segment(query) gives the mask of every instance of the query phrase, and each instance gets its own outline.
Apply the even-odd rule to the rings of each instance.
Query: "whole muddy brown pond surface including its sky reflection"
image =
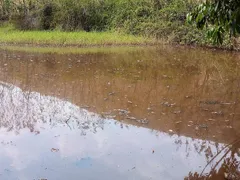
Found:
[[[240,54],[0,50],[0,179],[239,179]]]

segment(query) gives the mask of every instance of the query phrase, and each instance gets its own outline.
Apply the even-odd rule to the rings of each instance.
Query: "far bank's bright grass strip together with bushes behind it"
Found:
[[[186,14],[195,7],[197,2],[195,0],[8,0],[3,2],[0,19],[14,24],[19,30],[27,31],[1,34],[3,42],[24,41],[51,45],[149,43],[145,38],[135,37],[141,36],[177,44],[206,43],[204,32],[186,23]],[[37,32],[46,30],[54,32]],[[96,31],[99,33],[95,33]]]

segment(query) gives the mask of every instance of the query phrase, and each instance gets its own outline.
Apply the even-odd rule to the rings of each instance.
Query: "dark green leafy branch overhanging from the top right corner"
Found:
[[[226,34],[240,33],[240,0],[207,0],[187,15],[187,22],[207,29],[207,37],[214,44],[222,44]]]

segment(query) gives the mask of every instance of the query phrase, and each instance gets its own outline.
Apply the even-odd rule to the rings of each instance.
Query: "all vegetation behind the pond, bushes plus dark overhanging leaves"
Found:
[[[230,47],[240,32],[240,0],[0,0],[0,22],[20,30],[113,31]]]

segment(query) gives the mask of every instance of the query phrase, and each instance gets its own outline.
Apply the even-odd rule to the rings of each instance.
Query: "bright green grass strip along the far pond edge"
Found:
[[[0,43],[50,46],[109,46],[154,44],[153,39],[114,32],[20,31],[0,28]]]

